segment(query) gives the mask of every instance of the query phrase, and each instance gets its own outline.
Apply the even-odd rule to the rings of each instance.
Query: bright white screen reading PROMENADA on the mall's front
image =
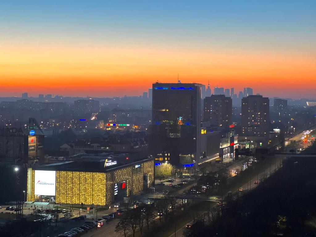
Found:
[[[56,171],[35,170],[35,195],[55,196]]]

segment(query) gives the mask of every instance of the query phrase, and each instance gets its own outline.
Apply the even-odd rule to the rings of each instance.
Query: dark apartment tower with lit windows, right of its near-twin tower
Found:
[[[262,95],[242,98],[242,136],[265,137],[269,132],[269,123],[269,98]]]

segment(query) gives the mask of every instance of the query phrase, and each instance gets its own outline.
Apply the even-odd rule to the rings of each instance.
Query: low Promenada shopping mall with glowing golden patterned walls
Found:
[[[27,201],[107,205],[147,191],[154,183],[154,159],[131,154],[81,154],[29,168]]]

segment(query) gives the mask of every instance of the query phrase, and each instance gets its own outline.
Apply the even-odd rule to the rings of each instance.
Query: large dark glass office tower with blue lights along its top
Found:
[[[149,149],[158,161],[177,167],[200,156],[201,84],[153,84]],[[193,165],[192,165],[193,166]]]

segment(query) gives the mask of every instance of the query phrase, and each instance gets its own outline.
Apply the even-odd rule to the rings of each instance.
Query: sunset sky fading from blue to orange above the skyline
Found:
[[[154,82],[316,98],[316,1],[0,1],[0,96]]]

